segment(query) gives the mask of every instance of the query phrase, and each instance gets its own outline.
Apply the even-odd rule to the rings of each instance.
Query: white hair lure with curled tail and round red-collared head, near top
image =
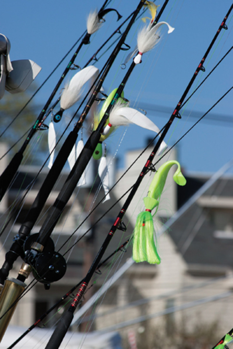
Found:
[[[153,47],[159,42],[160,36],[157,31],[163,24],[166,24],[168,26],[168,34],[173,32],[173,30],[175,29],[172,28],[167,22],[159,22],[152,28],[150,25],[148,27],[145,26],[138,32],[137,44],[139,53],[133,60],[135,64],[140,63],[143,53],[152,50]]]

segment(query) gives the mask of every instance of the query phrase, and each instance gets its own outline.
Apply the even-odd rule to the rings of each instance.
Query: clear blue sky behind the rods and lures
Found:
[[[102,6],[100,0],[87,2],[12,0],[10,3],[10,7],[6,1],[1,4],[1,14],[4,14],[1,18],[1,33],[10,39],[11,60],[29,58],[42,67],[36,78],[38,86],[86,29],[86,17],[89,11]],[[163,1],[156,1],[156,3],[162,6]],[[116,8],[123,15],[121,20],[123,21],[137,7],[137,4],[138,0],[115,0],[110,2],[109,7]],[[161,128],[168,121],[230,6],[230,0],[222,2],[170,0],[168,2],[160,20],[169,22],[175,27],[175,30],[168,35],[167,29],[163,29],[160,43],[150,53],[143,55],[142,63],[135,67],[124,90],[125,97],[131,101],[131,106],[146,109],[147,116],[158,127]],[[149,16],[149,13],[147,15]],[[193,88],[197,82],[200,83],[205,78],[213,66],[231,48],[233,42],[232,15],[233,12],[226,22],[228,30],[221,31],[206,59],[204,64],[206,72],[198,74]],[[84,66],[111,32],[121,24],[121,21],[116,22],[116,18],[114,13],[105,17],[105,23],[91,37],[90,44],[82,47],[75,60],[76,64]],[[132,50],[136,46],[137,31],[142,25],[143,22],[138,20],[126,38],[126,43],[131,46]],[[75,49],[76,47],[77,45]],[[109,57],[113,47],[102,57],[100,55],[103,51],[97,56],[100,57],[96,63],[99,69]],[[41,106],[45,104],[75,49],[38,92],[35,103]],[[192,97],[182,114],[182,119],[173,122],[165,138],[170,146],[194,124],[197,116],[204,114],[232,86],[232,51]],[[128,62],[125,70],[120,68],[127,54],[128,52],[125,51],[118,54],[103,84],[106,92],[118,87],[121,83],[131,63],[131,61]],[[67,79],[70,79],[72,74],[72,72],[69,73]],[[214,172],[231,159],[233,148],[232,96],[231,91],[213,109],[211,118],[201,121],[179,143],[179,161],[186,170]],[[76,109],[77,106],[73,110]],[[227,122],[221,121],[226,117],[229,118]],[[125,151],[143,147],[146,138],[153,136],[151,132],[137,126],[130,126],[123,140],[121,134],[122,129],[119,128],[108,141],[112,154],[115,153],[117,144],[121,142],[118,150],[121,158]]]

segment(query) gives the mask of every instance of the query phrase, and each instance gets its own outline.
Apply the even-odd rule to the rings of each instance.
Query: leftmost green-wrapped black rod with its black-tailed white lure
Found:
[[[77,57],[78,52],[80,51],[82,45],[87,45],[89,44],[89,39],[90,36],[99,29],[99,23],[102,19],[102,17],[108,13],[109,11],[116,11],[115,9],[104,9],[106,3],[108,2],[108,0],[104,1],[103,6],[101,7],[101,9],[99,10],[99,12],[96,14],[96,18],[95,18],[95,22],[94,22],[94,26],[90,26],[90,28],[88,28],[88,30],[86,31],[86,35],[83,37],[80,45],[78,46],[77,50],[75,51],[75,53],[73,54],[73,57],[71,58],[69,64],[67,65],[67,67],[65,68],[63,74],[61,75],[56,87],[54,88],[54,90],[52,91],[48,101],[45,103],[42,111],[40,112],[34,126],[31,128],[31,131],[29,132],[26,140],[24,141],[22,147],[20,148],[20,150],[14,155],[14,157],[12,158],[12,160],[10,161],[9,165],[7,166],[7,168],[5,169],[5,171],[1,174],[0,176],[0,200],[3,198],[3,195],[5,194],[5,192],[7,191],[8,186],[10,185],[12,179],[15,176],[15,173],[17,171],[17,169],[19,168],[19,165],[22,162],[23,159],[23,153],[24,150],[27,148],[30,140],[32,139],[33,135],[36,133],[36,131],[38,129],[41,129],[41,127],[43,127],[41,120],[44,117],[44,114],[48,108],[48,106],[50,105],[54,95],[56,94],[60,84],[63,82],[64,77],[67,75],[67,73],[70,70],[70,67],[72,66],[72,64],[74,63],[75,58]],[[118,20],[122,17],[121,15],[118,14]]]

